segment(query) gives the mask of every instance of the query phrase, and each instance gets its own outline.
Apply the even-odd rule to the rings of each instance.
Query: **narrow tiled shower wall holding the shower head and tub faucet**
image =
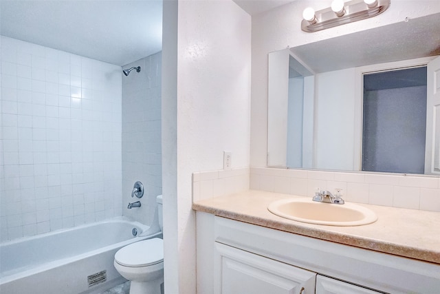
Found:
[[[141,67],[122,76],[122,215],[151,224],[156,196],[162,193],[162,52],[122,68]],[[144,196],[131,198],[136,181]],[[142,206],[127,209],[129,202]]]

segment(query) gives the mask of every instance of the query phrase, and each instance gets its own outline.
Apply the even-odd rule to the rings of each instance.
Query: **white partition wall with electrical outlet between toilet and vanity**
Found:
[[[221,169],[223,150],[250,164],[251,19],[232,1],[164,1],[164,19],[165,284],[196,293],[191,175]]]

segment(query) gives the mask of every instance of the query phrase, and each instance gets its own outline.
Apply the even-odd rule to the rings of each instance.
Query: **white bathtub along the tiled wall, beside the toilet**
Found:
[[[132,230],[137,230],[133,236]],[[160,237],[151,227],[114,218],[0,244],[0,293],[100,293],[124,278],[113,267],[122,246]]]

